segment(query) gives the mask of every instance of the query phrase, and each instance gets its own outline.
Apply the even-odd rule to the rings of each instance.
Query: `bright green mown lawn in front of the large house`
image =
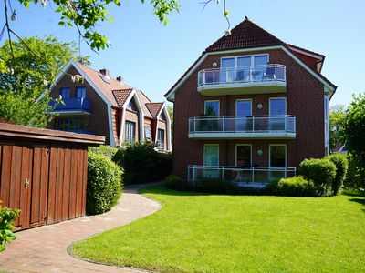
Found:
[[[78,242],[78,256],[167,272],[365,272],[362,197],[142,191],[162,209]]]

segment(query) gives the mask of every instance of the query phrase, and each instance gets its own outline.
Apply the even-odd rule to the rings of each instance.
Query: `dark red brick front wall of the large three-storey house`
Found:
[[[287,91],[280,94],[257,94],[240,96],[202,96],[197,91],[198,71],[213,68],[213,63],[220,67],[221,57],[268,54],[270,64],[280,64],[287,67]],[[245,93],[245,91],[243,91]],[[220,116],[235,116],[235,100],[239,98],[252,99],[253,116],[268,115],[270,97],[287,98],[287,115],[297,118],[297,137],[294,140],[196,140],[188,137],[189,117],[202,116],[204,100],[220,101]],[[261,109],[257,105],[261,104]],[[281,49],[246,52],[240,54],[220,54],[207,56],[175,92],[174,106],[174,140],[173,140],[173,172],[186,177],[187,166],[203,165],[203,145],[219,144],[219,165],[235,166],[235,145],[252,145],[253,166],[268,167],[268,149],[270,144],[287,145],[287,167],[298,167],[299,163],[308,157],[323,157],[324,143],[324,86],[307,70],[300,66],[292,57]],[[257,150],[263,151],[262,156]]]

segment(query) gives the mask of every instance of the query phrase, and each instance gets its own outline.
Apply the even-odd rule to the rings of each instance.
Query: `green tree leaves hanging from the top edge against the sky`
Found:
[[[31,3],[47,5],[47,1],[39,0],[18,0],[26,8]],[[144,0],[140,0],[144,4]],[[108,7],[120,6],[120,0],[55,0],[57,5],[56,12],[60,14],[58,25],[75,25],[78,33],[90,45],[92,49],[105,49],[110,45],[107,37],[97,30],[97,26],[102,22],[111,22],[112,18],[108,17]],[[179,11],[179,4],[176,0],[150,0],[153,6],[153,14],[156,15],[163,25],[169,21],[167,15],[172,11]]]

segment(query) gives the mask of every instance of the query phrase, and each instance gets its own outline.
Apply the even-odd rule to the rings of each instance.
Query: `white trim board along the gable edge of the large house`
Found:
[[[318,76],[316,72],[314,72],[312,69],[310,69],[303,61],[301,61],[297,56],[295,56],[293,53],[291,53],[285,46],[283,45],[275,45],[275,46],[265,46],[265,47],[253,47],[253,48],[244,48],[244,49],[235,49],[235,50],[225,50],[225,51],[214,51],[214,52],[206,52],[203,56],[201,56],[201,59],[190,68],[190,71],[183,76],[183,78],[179,81],[179,83],[172,88],[172,90],[166,95],[167,100],[173,101],[174,99],[174,93],[176,90],[183,85],[183,82],[190,77],[193,72],[198,68],[203,61],[206,59],[207,56],[211,55],[221,55],[221,54],[230,54],[230,53],[242,53],[242,52],[249,52],[249,51],[266,51],[266,50],[274,50],[274,49],[282,49],[285,53],[287,53],[288,56],[291,56],[300,66],[304,67],[308,71],[308,73],[315,78],[318,79],[323,85],[324,85],[324,92],[330,94],[330,98],[333,96],[336,88],[330,86],[327,81],[325,81],[322,77]]]

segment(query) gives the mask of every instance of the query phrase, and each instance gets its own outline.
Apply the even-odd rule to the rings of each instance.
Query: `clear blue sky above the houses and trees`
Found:
[[[114,21],[100,26],[112,46],[96,55],[84,43],[81,54],[91,56],[94,69],[110,69],[111,76],[122,76],[153,101],[164,100],[163,94],[227,27],[222,1],[202,10],[199,0],[181,0],[180,13],[170,15],[166,26],[152,15],[151,5],[121,2],[121,7],[110,9]],[[78,41],[75,28],[57,25],[55,5],[26,10],[13,3],[13,8],[18,16],[12,27],[18,34],[53,34],[62,41]],[[347,105],[352,94],[365,92],[365,1],[227,0],[227,8],[232,26],[246,15],[281,40],[324,54],[322,73],[339,86],[330,105]]]

